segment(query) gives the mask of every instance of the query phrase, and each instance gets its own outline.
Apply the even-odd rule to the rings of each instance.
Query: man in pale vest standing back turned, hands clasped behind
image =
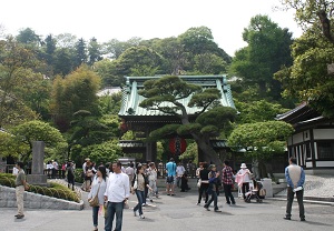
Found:
[[[285,178],[287,182],[287,204],[286,204],[286,214],[285,220],[291,220],[291,210],[294,201],[294,195],[296,193],[298,207],[299,207],[299,219],[305,221],[305,211],[304,211],[304,183],[305,183],[305,172],[304,169],[297,165],[295,158],[289,158],[289,165],[285,168]]]

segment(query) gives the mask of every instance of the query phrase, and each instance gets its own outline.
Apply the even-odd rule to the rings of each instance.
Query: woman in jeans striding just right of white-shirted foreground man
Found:
[[[143,204],[145,199],[145,188],[148,188],[151,191],[151,188],[148,184],[148,180],[144,174],[144,167],[138,165],[136,170],[136,174],[134,175],[131,193],[137,195],[138,203],[134,208],[134,214],[137,215],[137,210],[139,211],[139,218],[145,219],[143,214]]]

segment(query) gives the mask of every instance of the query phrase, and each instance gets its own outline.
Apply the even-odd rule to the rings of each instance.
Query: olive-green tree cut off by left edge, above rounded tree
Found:
[[[35,52],[12,37],[0,41],[0,127],[37,118],[20,93],[38,76],[33,71],[38,64]]]

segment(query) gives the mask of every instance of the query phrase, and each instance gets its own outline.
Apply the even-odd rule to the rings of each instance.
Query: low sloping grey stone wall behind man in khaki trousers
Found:
[[[53,210],[82,210],[84,201],[80,203],[48,195],[24,192],[24,208],[29,209],[53,209]],[[17,207],[16,189],[0,185],[0,208]]]

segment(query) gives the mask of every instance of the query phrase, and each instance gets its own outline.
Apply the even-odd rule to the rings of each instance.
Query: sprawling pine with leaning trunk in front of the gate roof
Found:
[[[236,110],[228,107],[215,107],[220,98],[218,89],[202,89],[200,86],[187,83],[175,76],[147,80],[144,90],[138,92],[146,99],[139,104],[143,108],[158,110],[180,119],[181,124],[167,124],[150,133],[150,139],[159,139],[177,132],[190,134],[198,148],[205,153],[205,160],[222,165],[222,160],[210,147],[209,138],[219,135],[236,117]],[[179,102],[190,97],[188,107],[198,108],[196,120],[191,122],[186,106]],[[171,103],[166,107],[166,102]],[[194,114],[193,114],[194,117]]]

